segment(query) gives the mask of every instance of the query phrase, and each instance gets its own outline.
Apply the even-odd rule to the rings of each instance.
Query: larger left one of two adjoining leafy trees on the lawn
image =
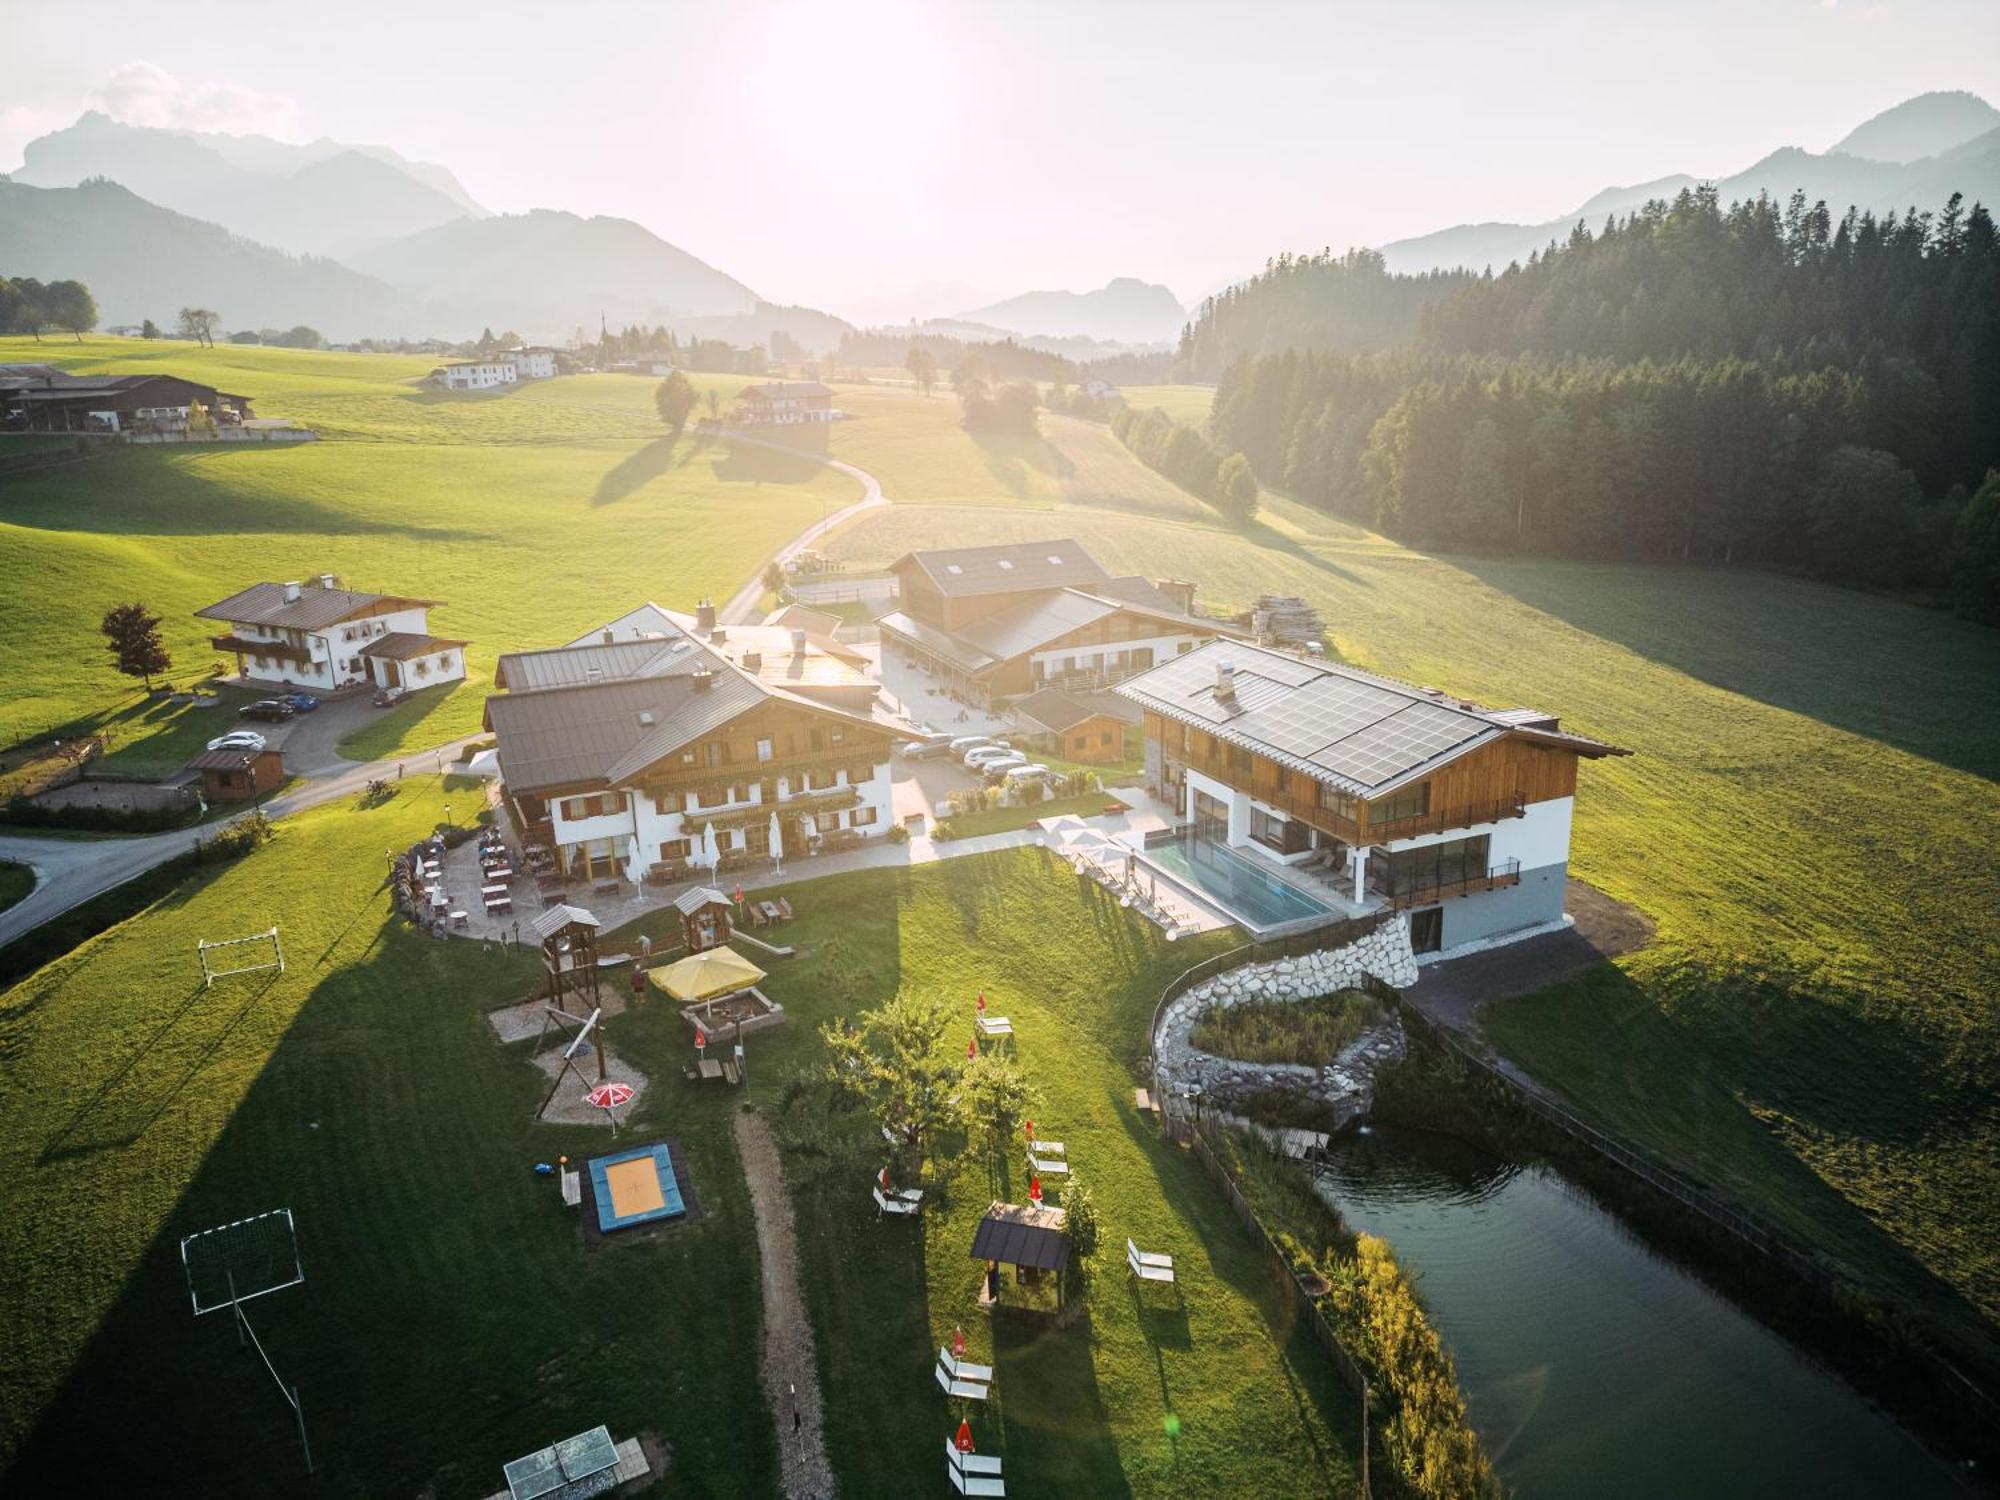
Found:
[[[942,996],[898,994],[860,1026],[820,1026],[820,1078],[834,1098],[860,1104],[900,1152],[922,1162],[938,1134],[960,1118],[964,1058],[942,1046],[954,1006]]]

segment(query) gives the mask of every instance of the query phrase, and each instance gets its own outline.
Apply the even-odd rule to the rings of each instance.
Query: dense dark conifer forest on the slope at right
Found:
[[[1310,284],[1336,288],[1332,312],[1260,350],[1282,328],[1246,328],[1246,308]],[[1388,340],[1386,314],[1362,324],[1362,304],[1400,308],[1408,336]],[[1356,256],[1274,262],[1208,304],[1182,354],[1236,346],[1214,446],[1430,546],[1930,588],[1984,538],[1958,518],[2000,468],[2000,238],[1956,198],[1834,222],[1802,198],[1684,192],[1456,282]]]

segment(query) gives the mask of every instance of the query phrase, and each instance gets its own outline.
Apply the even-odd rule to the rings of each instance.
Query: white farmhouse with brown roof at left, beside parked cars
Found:
[[[360,594],[330,574],[314,584],[250,584],[196,618],[230,630],[210,646],[230,652],[246,682],[274,688],[426,688],[466,676],[466,642],[430,634],[436,600]]]

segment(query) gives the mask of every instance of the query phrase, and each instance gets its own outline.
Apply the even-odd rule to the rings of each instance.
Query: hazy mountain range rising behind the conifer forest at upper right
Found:
[[[1410,274],[1460,266],[1502,270],[1552,242],[1560,244],[1578,222],[1596,230],[1610,214],[1630,214],[1702,182],[1714,182],[1726,204],[1760,192],[1784,202],[1802,190],[1808,202],[1824,198],[1834,218],[1848,206],[1882,214],[1914,204],[1934,212],[1954,192],[1962,192],[1968,204],[2000,208],[2000,110],[1976,94],[1918,94],[1856,126],[1822,154],[1784,146],[1734,176],[1674,174],[1604,188],[1544,224],[1458,224],[1384,244],[1382,256],[1390,270]]]

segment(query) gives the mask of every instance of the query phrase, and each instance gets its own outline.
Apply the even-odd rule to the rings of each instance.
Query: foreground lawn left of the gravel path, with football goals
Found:
[[[584,1254],[530,1168],[608,1136],[532,1124],[542,1076],[482,1014],[532,964],[386,920],[382,848],[444,796],[426,776],[290,818],[0,1000],[0,1488],[68,1490],[88,1452],[106,1494],[298,1492],[288,1412],[226,1318],[190,1316],[176,1252],[290,1206],[306,1284],[254,1316],[328,1494],[488,1494],[596,1422],[672,1444],[666,1494],[772,1492],[726,1112],[656,1096],[706,1218]],[[200,986],[196,938],[272,920],[282,976]]]

